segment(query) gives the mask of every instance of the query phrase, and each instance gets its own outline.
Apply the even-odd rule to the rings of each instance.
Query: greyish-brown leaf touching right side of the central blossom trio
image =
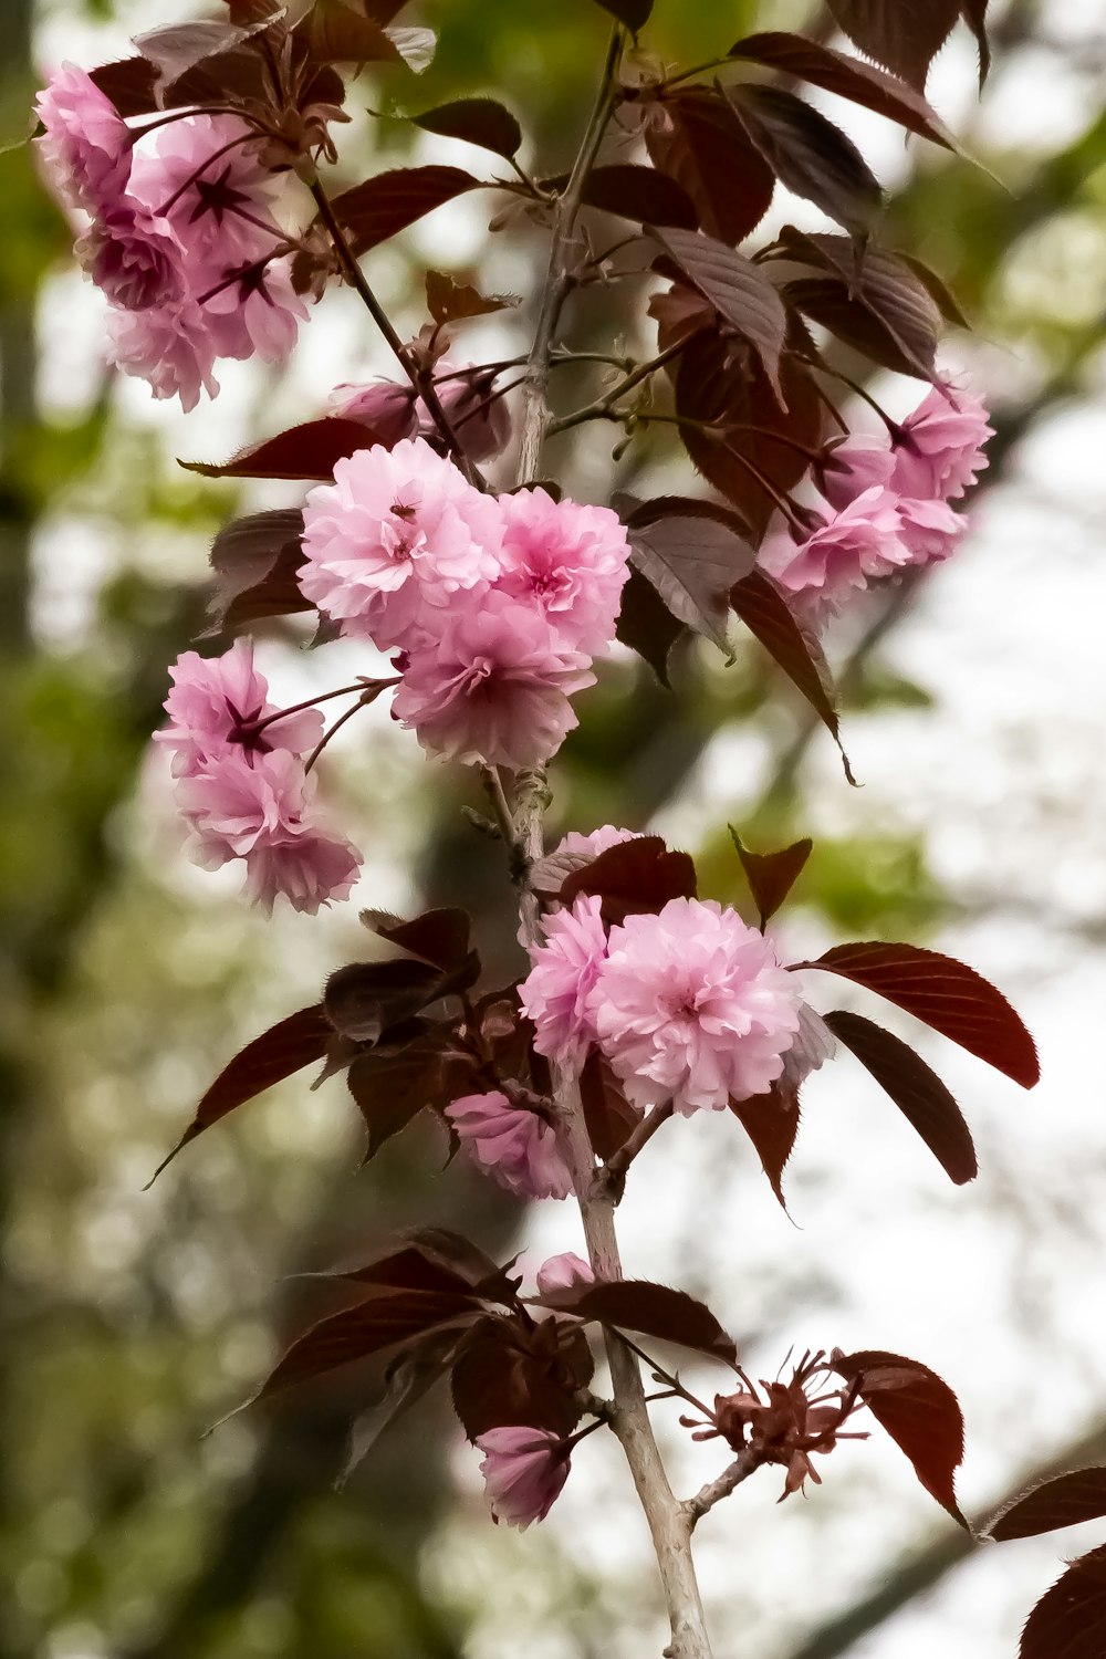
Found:
[[[647,503],[627,519],[630,562],[648,577],[677,620],[726,645],[728,594],[756,551],[726,524],[701,516],[653,516]]]

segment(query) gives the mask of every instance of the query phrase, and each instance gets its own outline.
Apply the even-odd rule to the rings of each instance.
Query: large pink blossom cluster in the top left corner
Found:
[[[111,362],[186,410],[217,393],[217,358],[284,363],[307,310],[250,128],[191,114],[144,136],[73,65],[35,109],[46,181],[85,224],[76,251],[109,302]]]

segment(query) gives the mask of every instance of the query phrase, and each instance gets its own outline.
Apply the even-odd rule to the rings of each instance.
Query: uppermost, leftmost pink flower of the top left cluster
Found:
[[[91,214],[119,206],[131,171],[131,134],[91,76],[65,63],[38,93],[35,113],[46,129],[35,146],[65,206]]]

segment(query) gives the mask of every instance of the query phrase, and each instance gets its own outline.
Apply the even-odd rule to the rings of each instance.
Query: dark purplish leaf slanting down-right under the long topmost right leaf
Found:
[[[852,139],[781,86],[743,83],[726,95],[779,182],[854,236],[866,236],[884,192]]]

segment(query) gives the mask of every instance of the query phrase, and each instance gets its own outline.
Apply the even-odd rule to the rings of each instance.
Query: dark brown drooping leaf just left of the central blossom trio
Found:
[[[303,514],[293,508],[250,513],[219,531],[211,549],[216,581],[207,607],[209,634],[315,609],[297,582],[302,534]]]

